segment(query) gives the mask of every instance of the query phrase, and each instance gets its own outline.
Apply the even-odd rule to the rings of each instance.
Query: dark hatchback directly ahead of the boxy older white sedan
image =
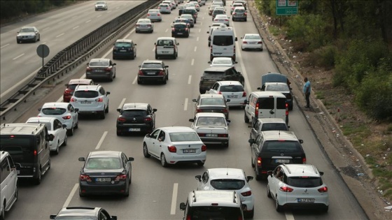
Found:
[[[198,112],[218,112],[223,113],[226,119],[229,119],[230,99],[226,99],[222,94],[200,94],[195,102],[195,115]]]

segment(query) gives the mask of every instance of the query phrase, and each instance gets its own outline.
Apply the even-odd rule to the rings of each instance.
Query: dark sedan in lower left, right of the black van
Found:
[[[123,152],[98,151],[78,160],[85,162],[80,169],[79,196],[130,195],[133,157],[128,158]]]

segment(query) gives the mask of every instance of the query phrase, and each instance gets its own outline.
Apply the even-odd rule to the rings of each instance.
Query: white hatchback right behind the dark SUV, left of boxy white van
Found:
[[[241,82],[238,81],[218,81],[209,89],[209,94],[222,94],[229,106],[239,106],[244,108],[246,105],[246,91]]]

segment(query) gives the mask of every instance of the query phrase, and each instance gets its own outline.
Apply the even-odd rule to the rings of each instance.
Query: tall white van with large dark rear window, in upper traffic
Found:
[[[211,33],[210,61],[214,57],[231,57],[235,61],[235,41],[232,27],[218,27]]]

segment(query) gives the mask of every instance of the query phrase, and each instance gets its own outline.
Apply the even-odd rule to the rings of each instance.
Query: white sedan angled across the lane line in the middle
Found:
[[[204,166],[207,147],[190,127],[162,127],[144,137],[143,154],[159,159],[163,167],[184,162]]]

